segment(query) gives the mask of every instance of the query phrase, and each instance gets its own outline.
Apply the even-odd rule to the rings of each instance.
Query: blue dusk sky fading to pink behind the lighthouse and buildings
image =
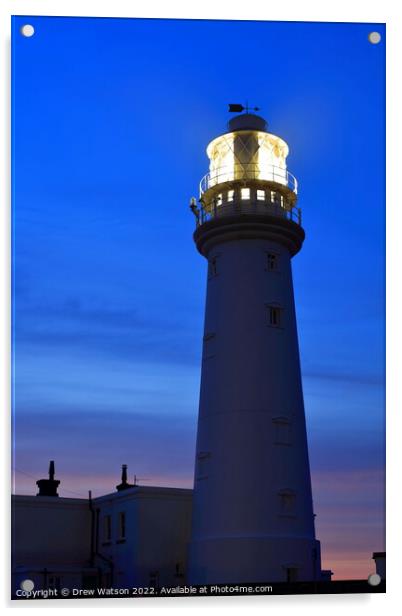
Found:
[[[143,483],[191,485],[205,262],[188,202],[227,103],[248,99],[300,183],[293,271],[324,564],[371,571],[384,39],[378,24],[14,18],[16,491],[34,493],[51,458],[65,496],[112,491],[122,463]]]

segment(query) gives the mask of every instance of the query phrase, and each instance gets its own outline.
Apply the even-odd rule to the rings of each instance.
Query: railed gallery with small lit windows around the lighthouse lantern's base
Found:
[[[197,227],[214,218],[233,215],[270,215],[301,225],[296,207],[297,180],[286,169],[259,165],[236,165],[215,169],[200,182],[200,204],[191,209]]]

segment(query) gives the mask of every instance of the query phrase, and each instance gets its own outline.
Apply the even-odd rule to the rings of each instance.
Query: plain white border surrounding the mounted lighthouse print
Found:
[[[307,614],[311,612],[326,613],[339,612],[343,608],[352,608],[356,613],[370,615],[383,609],[383,603],[387,602],[387,608],[391,603],[395,606],[400,603],[398,593],[400,558],[402,555],[400,530],[401,516],[401,490],[399,470],[400,435],[402,434],[402,407],[397,405],[397,383],[402,380],[401,360],[399,360],[399,373],[397,357],[401,340],[402,313],[398,310],[402,298],[402,258],[398,237],[402,229],[400,209],[402,200],[399,195],[398,180],[402,173],[401,165],[401,122],[402,97],[397,82],[401,81],[400,64],[402,58],[402,16],[401,3],[393,0],[337,0],[337,2],[321,2],[317,0],[280,0],[268,2],[256,0],[254,3],[235,3],[234,0],[203,0],[195,4],[188,1],[147,0],[140,3],[135,0],[3,0],[0,7],[0,36],[3,53],[1,60],[1,121],[3,123],[2,135],[6,136],[3,147],[0,150],[0,187],[2,199],[0,208],[0,292],[5,298],[1,302],[0,335],[0,374],[2,378],[0,391],[2,392],[2,414],[5,418],[3,426],[3,454],[2,466],[3,503],[4,508],[2,529],[3,546],[9,545],[9,468],[10,468],[10,439],[9,423],[7,423],[7,409],[9,408],[9,267],[10,267],[10,240],[9,240],[9,140],[10,140],[10,104],[9,104],[9,59],[10,59],[10,15],[64,15],[64,16],[98,16],[98,17],[169,17],[169,18],[192,18],[192,19],[265,19],[278,21],[338,21],[338,22],[373,22],[387,23],[387,594],[386,595],[320,595],[320,596],[289,596],[289,597],[239,597],[227,599],[205,598],[197,599],[168,599],[168,600],[76,600],[72,602],[40,601],[24,603],[8,601],[9,596],[9,554],[3,550],[1,561],[2,570],[0,575],[0,588],[2,590],[2,602],[11,609],[43,609],[43,608],[67,608],[75,611],[99,610],[103,608],[136,609],[149,612],[149,610],[164,611],[195,610],[205,611],[218,608],[220,611],[230,610],[232,613],[240,613],[243,610],[255,610],[267,612],[280,608],[284,613],[297,612]],[[202,45],[202,41],[196,42]],[[398,63],[399,59],[399,63]],[[370,127],[367,127],[370,130]],[[351,204],[351,207],[353,204]],[[399,242],[398,242],[399,240]]]

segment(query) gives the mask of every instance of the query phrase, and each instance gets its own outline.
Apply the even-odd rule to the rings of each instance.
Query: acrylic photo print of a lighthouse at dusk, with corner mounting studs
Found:
[[[384,56],[13,18],[15,599],[384,592]]]

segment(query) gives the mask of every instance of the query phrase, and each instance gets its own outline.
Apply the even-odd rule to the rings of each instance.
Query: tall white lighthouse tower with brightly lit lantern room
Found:
[[[208,260],[188,579],[319,580],[291,259],[304,231],[285,141],[234,117],[208,145]]]

